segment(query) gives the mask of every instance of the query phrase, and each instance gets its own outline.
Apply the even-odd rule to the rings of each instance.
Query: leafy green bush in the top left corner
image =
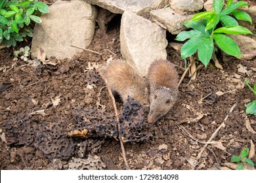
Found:
[[[31,20],[42,22],[41,13],[48,13],[45,3],[37,0],[1,0],[0,1],[0,44],[6,47],[16,46],[24,37],[33,37]]]

